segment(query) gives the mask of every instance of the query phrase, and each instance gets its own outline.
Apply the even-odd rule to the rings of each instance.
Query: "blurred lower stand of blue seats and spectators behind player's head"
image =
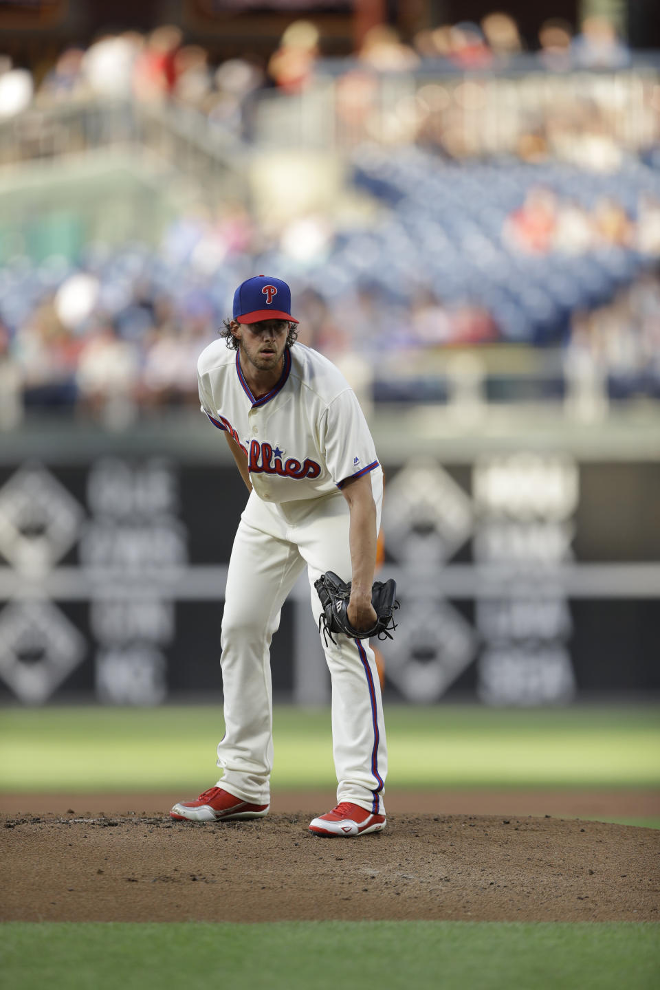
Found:
[[[396,368],[401,401],[419,401],[411,369],[433,350],[498,342],[565,347],[569,377],[590,366],[618,382],[616,396],[658,394],[656,169],[448,165],[415,148],[365,148],[353,164],[354,182],[379,204],[361,226],[342,228],[331,213],[266,226],[239,203],[200,202],[156,247],[8,259],[0,425],[24,405],[118,428],[165,406],[196,407],[197,357],[255,271],[290,281],[301,343],[349,377]]]

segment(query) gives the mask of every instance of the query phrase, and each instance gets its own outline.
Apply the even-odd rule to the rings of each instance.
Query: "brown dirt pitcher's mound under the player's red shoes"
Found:
[[[0,920],[660,920],[658,831],[393,815],[343,840],[314,837],[310,817],[3,815]]]

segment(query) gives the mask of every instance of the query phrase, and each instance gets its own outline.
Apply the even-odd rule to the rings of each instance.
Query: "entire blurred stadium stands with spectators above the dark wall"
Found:
[[[39,85],[5,64],[5,426],[194,404],[196,352],[257,269],[287,274],[301,340],[369,369],[378,403],[444,403],[463,373],[487,402],[587,380],[657,398],[660,62],[602,25],[522,53],[510,22],[382,29],[350,59],[299,24],[267,66],[211,66],[163,27],[64,49]],[[312,152],[312,184],[320,148],[338,183],[278,226],[255,174]],[[447,348],[476,360],[452,378]]]

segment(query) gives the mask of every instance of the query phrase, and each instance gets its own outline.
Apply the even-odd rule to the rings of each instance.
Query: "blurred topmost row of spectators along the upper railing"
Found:
[[[480,24],[464,21],[424,29],[404,43],[389,25],[371,28],[345,71],[355,67],[379,73],[437,67],[506,68],[525,53],[519,27],[509,14],[494,12]],[[614,69],[630,61],[629,49],[613,22],[588,17],[575,33],[560,19],[545,21],[533,40],[531,56],[551,72]],[[295,21],[268,58],[256,54],[212,64],[209,52],[188,44],[181,30],[162,25],[148,34],[125,31],[96,39],[87,49],[64,49],[37,77],[0,56],[0,118],[42,105],[89,96],[173,100],[195,107],[211,121],[232,124],[251,93],[264,86],[286,93],[303,90],[323,62],[323,40],[309,21]]]

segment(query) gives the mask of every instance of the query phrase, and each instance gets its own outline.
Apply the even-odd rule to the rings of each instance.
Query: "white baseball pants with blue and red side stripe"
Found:
[[[383,497],[380,468],[371,473],[377,527]],[[272,505],[252,492],[232,550],[221,644],[226,732],[218,745],[218,784],[251,804],[268,804],[273,765],[270,641],[280,611],[307,564],[314,582],[327,570],[350,580],[348,505],[340,492]],[[332,689],[332,752],[337,802],[384,814],[387,748],[380,683],[367,640],[336,636],[324,644]]]

